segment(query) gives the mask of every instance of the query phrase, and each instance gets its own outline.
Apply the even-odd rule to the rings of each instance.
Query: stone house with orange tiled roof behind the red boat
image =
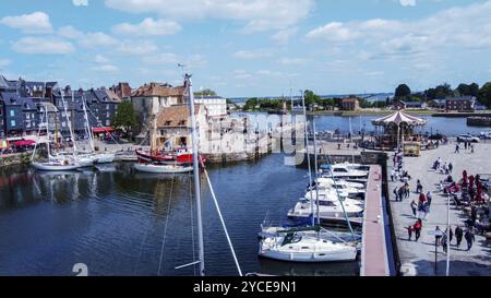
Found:
[[[207,112],[204,105],[194,105],[199,139],[208,130]],[[164,108],[157,116],[157,145],[167,147],[191,146],[191,120],[188,105]]]

